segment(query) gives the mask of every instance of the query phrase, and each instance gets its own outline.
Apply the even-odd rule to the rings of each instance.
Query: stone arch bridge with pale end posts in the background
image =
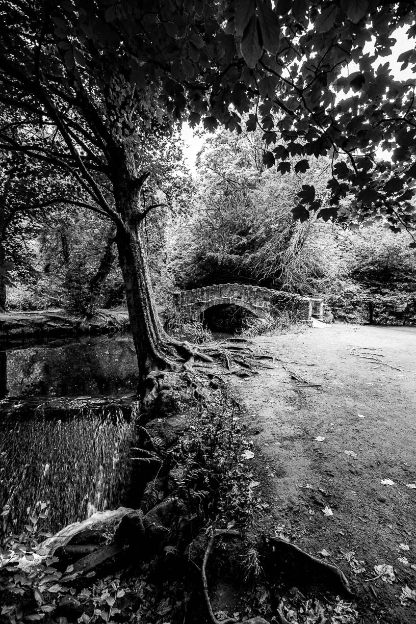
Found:
[[[235,305],[259,316],[269,311],[271,297],[278,292],[245,284],[215,284],[173,293],[173,301],[178,311],[195,321],[205,310],[218,305]],[[312,316],[321,321],[323,319],[322,299],[297,296],[296,307],[299,317],[304,321],[311,321]]]

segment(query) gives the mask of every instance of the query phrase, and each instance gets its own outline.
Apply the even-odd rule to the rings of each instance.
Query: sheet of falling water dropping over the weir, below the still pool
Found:
[[[87,518],[95,510],[131,505],[135,479],[130,461],[135,417],[119,409],[79,416],[4,419],[0,434],[3,530],[20,530],[37,501],[49,504],[47,530]],[[138,489],[138,488],[137,488]]]

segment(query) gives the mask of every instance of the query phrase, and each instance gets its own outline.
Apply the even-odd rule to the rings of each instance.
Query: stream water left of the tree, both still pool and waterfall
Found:
[[[42,401],[100,396],[117,403],[133,397],[136,384],[128,334],[0,347],[0,533],[21,530],[37,501],[48,503],[49,532],[94,510],[134,504],[135,411],[97,411],[84,398],[82,409],[62,417],[62,410],[45,413]]]

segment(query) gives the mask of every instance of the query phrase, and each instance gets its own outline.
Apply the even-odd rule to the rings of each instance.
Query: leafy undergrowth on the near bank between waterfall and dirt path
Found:
[[[25,571],[17,571],[11,555],[25,555],[30,560],[36,559],[39,553],[47,554],[39,540],[49,537],[41,529],[48,510],[46,504],[40,503],[38,514],[29,519],[25,531],[9,536],[1,551],[4,565],[0,562],[0,600],[4,606],[0,622],[162,624],[183,621],[191,593],[197,597],[200,588],[200,577],[192,570],[195,565],[201,565],[201,552],[187,545],[198,538],[200,529],[203,529],[202,536],[217,527],[235,526],[244,532],[251,522],[253,495],[249,487],[248,462],[243,459],[247,442],[241,413],[229,386],[216,379],[215,384],[202,387],[206,379],[190,373],[183,376],[188,376],[188,396],[186,400],[183,397],[179,414],[186,417],[188,431],[172,447],[166,447],[161,439],[149,436],[143,429],[147,449],[133,451],[139,461],[154,466],[153,480],[143,493],[143,513],[161,500],[158,478],[171,474],[172,469],[176,471],[175,491],[168,492],[168,496],[176,497],[185,511],[174,523],[168,544],[152,562],[136,564],[128,573],[117,572],[102,579],[94,574],[83,580],[74,578],[69,583],[61,582],[63,575],[71,575],[72,567],[61,572],[57,569],[59,560],[53,555],[39,562],[32,561]],[[189,525],[190,518],[195,519],[196,534],[183,543],[180,532]],[[204,537],[201,544],[203,542]],[[173,580],[169,580],[172,569],[175,570]],[[76,605],[77,617],[72,620],[62,620],[64,599],[73,600]]]

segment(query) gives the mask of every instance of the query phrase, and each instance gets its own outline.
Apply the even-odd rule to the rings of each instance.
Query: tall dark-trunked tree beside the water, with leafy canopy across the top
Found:
[[[0,101],[16,124],[45,128],[22,142],[3,127],[2,147],[69,172],[90,208],[114,221],[143,374],[185,348],[162,330],[143,248],[152,207],[141,201],[147,132],[185,118],[239,132],[239,115],[254,105],[248,129],[263,129],[267,166],[285,172],[288,154],[304,156],[305,166],[331,154],[331,206],[305,185],[297,217],[312,210],[331,218],[352,189],[362,218],[383,211],[393,227],[410,230],[414,83],[395,81],[388,63],[373,66],[389,54],[397,26],[410,24],[415,35],[414,17],[410,1],[279,0],[272,8],[269,0],[2,0]],[[362,54],[367,42],[373,55]],[[412,46],[401,60],[416,63]],[[349,62],[358,71],[345,77]],[[341,89],[353,93],[336,99]],[[273,149],[280,136],[287,147]],[[394,150],[394,170],[376,161],[380,145]],[[347,162],[336,162],[339,153]]]

